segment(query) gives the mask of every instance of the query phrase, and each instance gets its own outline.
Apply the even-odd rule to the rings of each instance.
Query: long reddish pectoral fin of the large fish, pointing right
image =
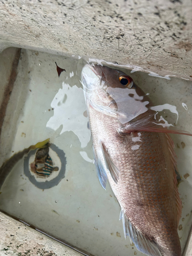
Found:
[[[159,120],[156,120],[154,118],[155,115],[156,114],[150,114],[135,122],[129,122],[127,125],[121,127],[118,132],[121,134],[126,134],[135,131],[142,131],[154,133],[173,133],[192,136],[191,133],[179,130],[172,124],[168,124],[166,120],[164,120],[162,117],[160,117]]]

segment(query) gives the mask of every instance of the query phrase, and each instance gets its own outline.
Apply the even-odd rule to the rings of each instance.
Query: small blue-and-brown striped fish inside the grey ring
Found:
[[[49,155],[49,146],[50,144],[47,143],[45,147],[39,148],[35,154],[35,160],[30,164],[31,172],[39,178],[48,178],[53,171],[59,170],[57,166],[54,166]]]

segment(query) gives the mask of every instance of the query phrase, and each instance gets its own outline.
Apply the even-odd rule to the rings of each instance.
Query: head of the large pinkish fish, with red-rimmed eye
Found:
[[[145,113],[152,104],[133,79],[122,71],[87,64],[82,69],[81,79],[90,105],[111,116],[116,112],[121,123]]]

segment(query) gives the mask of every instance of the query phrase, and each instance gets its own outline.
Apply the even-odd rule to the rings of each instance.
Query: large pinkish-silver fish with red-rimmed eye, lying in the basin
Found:
[[[151,256],[181,256],[177,232],[182,203],[169,125],[151,99],[125,73],[85,65],[81,83],[99,181],[121,207],[124,236]]]

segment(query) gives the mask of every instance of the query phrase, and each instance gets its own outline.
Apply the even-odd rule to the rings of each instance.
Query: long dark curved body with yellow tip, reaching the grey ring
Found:
[[[5,179],[10,174],[14,165],[24,157],[24,155],[28,154],[30,151],[36,150],[37,148],[44,148],[49,143],[50,139],[46,139],[44,141],[38,142],[35,145],[31,145],[28,148],[24,148],[23,151],[19,151],[15,153],[12,157],[7,159],[2,166],[0,167],[0,188],[2,187]]]

